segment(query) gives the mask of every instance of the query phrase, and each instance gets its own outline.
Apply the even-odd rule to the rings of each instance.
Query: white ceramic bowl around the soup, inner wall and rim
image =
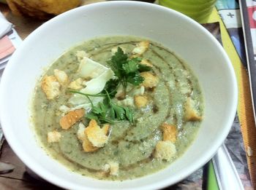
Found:
[[[99,181],[72,173],[45,154],[29,121],[29,103],[43,68],[61,53],[96,36],[120,34],[152,39],[185,60],[203,89],[205,116],[194,143],[170,167],[132,181]],[[90,4],[43,24],[12,55],[0,92],[1,125],[12,149],[35,173],[66,189],[159,189],[181,181],[214,156],[237,103],[233,66],[214,36],[176,11],[138,1]]]

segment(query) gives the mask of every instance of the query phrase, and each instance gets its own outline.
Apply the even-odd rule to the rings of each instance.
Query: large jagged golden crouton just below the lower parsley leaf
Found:
[[[91,119],[89,126],[86,127],[85,133],[93,146],[102,147],[108,142],[108,129],[110,125],[105,124],[102,128],[99,127],[94,119]]]

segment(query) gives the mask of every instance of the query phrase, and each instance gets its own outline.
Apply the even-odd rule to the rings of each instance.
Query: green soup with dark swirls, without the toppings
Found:
[[[78,50],[89,53],[92,60],[108,66],[107,61],[113,55],[111,52],[113,47],[121,47],[129,54],[142,40],[136,36],[109,36],[85,41],[64,52],[45,74],[51,75],[53,70],[58,68],[66,72],[71,82],[78,78],[79,61],[76,57]],[[203,115],[203,95],[197,78],[187,64],[154,41],[150,41],[148,50],[141,57],[152,63],[151,72],[158,77],[159,83],[154,90],[145,91],[150,99],[147,106],[132,107],[135,123],[130,124],[124,120],[110,124],[108,143],[94,152],[83,151],[81,142],[77,138],[79,122],[69,130],[62,130],[60,127],[59,107],[62,105],[72,107],[68,101],[72,93],[67,88],[61,87],[59,97],[48,100],[38,82],[33,100],[34,129],[43,148],[51,157],[81,175],[122,181],[162,170],[184,154],[200,128],[200,121],[184,119],[184,105],[187,98],[195,102],[197,113]],[[85,126],[89,123],[85,117],[80,122]],[[163,138],[161,125],[165,122],[173,124],[177,129],[177,140],[174,143],[176,154],[169,161],[154,157],[157,142]],[[48,132],[53,130],[61,133],[61,140],[57,143],[48,143]],[[110,161],[118,163],[118,175],[104,173],[102,168]]]

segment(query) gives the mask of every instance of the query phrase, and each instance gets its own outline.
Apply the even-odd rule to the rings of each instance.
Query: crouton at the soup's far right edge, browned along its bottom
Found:
[[[192,122],[201,121],[203,119],[196,110],[195,102],[191,98],[187,98],[187,101],[184,104],[184,119]]]

